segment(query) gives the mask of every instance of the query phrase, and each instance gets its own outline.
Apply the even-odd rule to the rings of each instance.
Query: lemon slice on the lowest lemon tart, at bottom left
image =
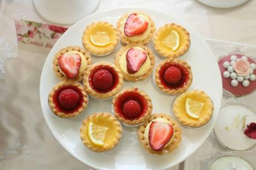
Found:
[[[107,127],[99,126],[90,122],[88,124],[88,136],[96,146],[103,146],[106,138]]]

